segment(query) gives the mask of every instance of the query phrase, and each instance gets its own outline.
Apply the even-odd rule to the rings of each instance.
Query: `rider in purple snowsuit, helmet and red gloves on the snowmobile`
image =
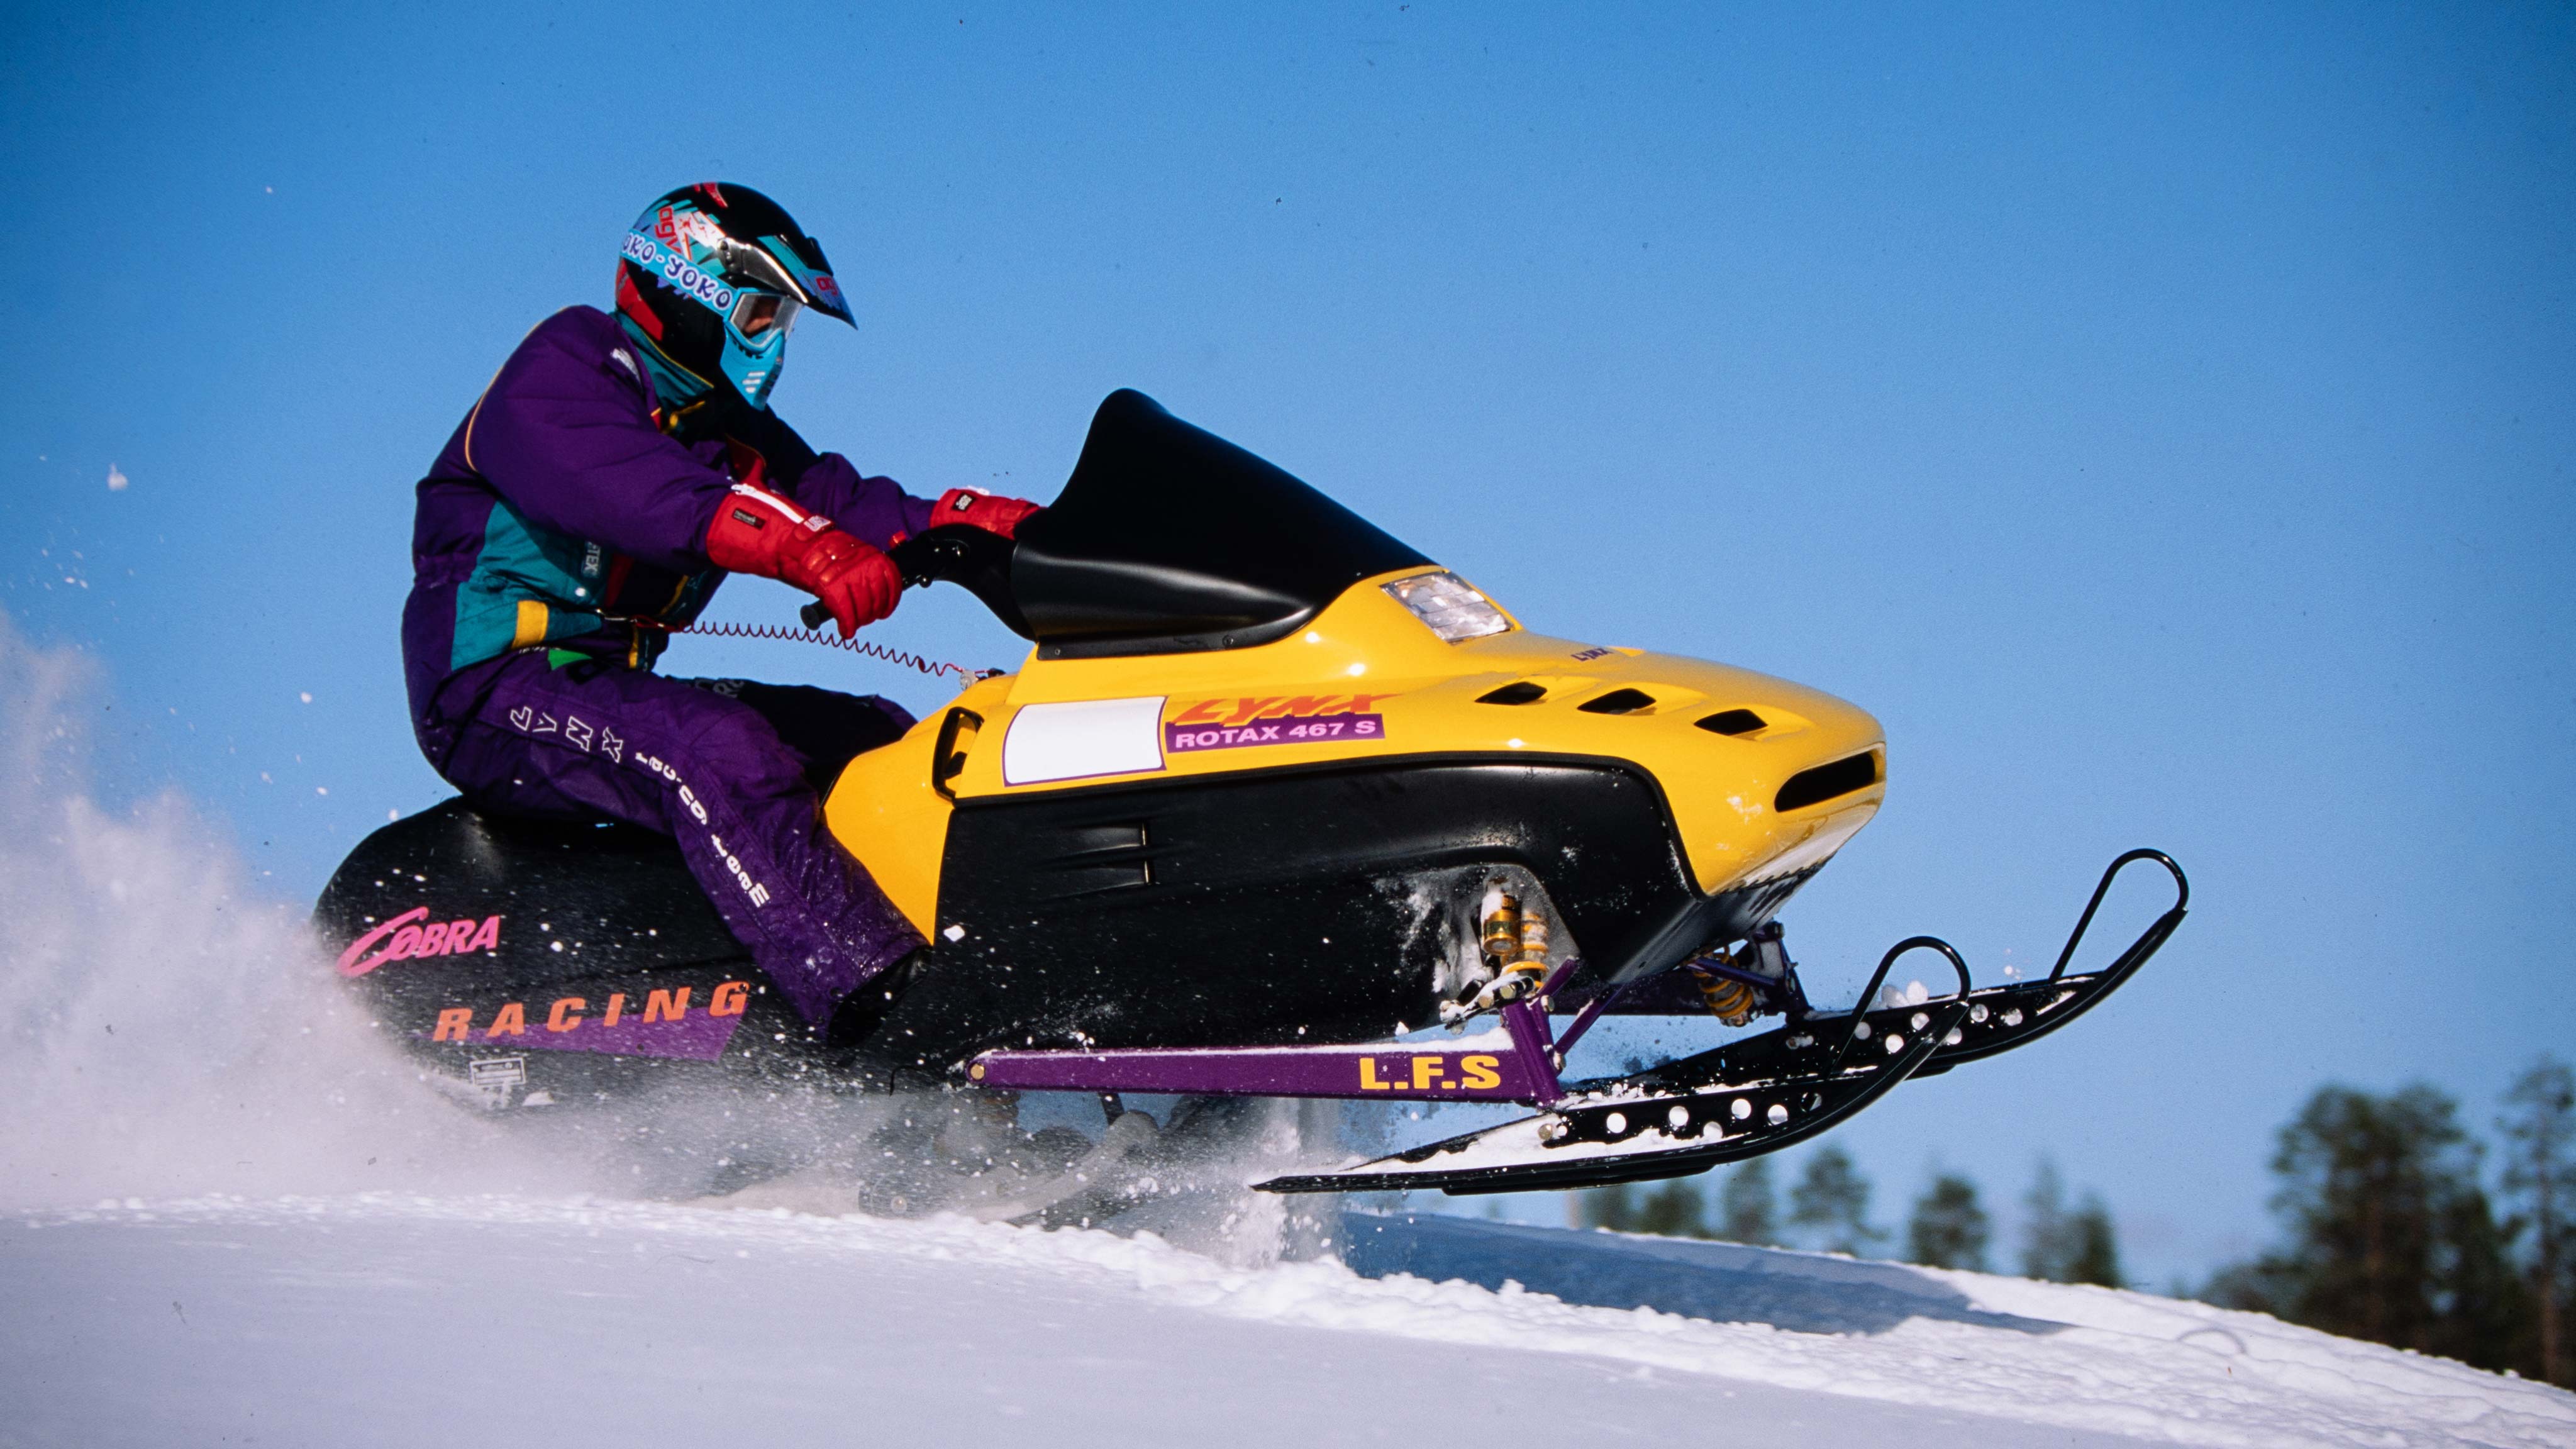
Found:
[[[420,480],[402,657],[430,766],[492,812],[672,835],[724,923],[817,1029],[922,946],[822,828],[819,792],[912,717],[886,699],[652,673],[724,572],[819,598],[842,639],[894,611],[884,549],[1012,536],[1033,503],[938,503],[817,454],[768,410],[804,309],[853,322],[822,248],[732,183],[665,193],[616,315],[536,325]],[[853,322],[855,325],[855,322]]]

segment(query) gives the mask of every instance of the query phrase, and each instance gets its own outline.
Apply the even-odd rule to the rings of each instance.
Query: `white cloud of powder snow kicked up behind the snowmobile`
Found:
[[[98,804],[103,696],[0,614],[0,1201],[572,1186],[422,1091],[188,799]]]

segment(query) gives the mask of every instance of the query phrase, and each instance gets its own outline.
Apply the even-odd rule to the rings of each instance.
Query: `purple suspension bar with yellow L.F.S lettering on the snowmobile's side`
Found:
[[[1574,962],[1558,967],[1569,975]],[[1556,980],[1548,982],[1558,985]],[[1546,1000],[1538,993],[1535,1000]],[[1007,1091],[1141,1091],[1185,1096],[1347,1096],[1414,1101],[1522,1101],[1564,1096],[1564,1055],[1535,1000],[1502,1008],[1502,1026],[1458,1042],[1332,1047],[1128,1047],[1103,1052],[984,1052],[976,1085]],[[1577,1024],[1589,1026],[1597,1008]],[[1574,1044],[1574,1034],[1566,1044]]]

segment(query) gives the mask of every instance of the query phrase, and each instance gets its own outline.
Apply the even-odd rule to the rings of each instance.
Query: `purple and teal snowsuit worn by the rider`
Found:
[[[680,843],[752,959],[814,1024],[922,944],[822,828],[817,789],[912,724],[889,701],[652,673],[721,583],[706,529],[737,477],[876,547],[930,503],[719,400],[665,431],[616,317],[567,307],[510,353],[420,480],[402,657],[412,730],[469,802],[623,820]]]

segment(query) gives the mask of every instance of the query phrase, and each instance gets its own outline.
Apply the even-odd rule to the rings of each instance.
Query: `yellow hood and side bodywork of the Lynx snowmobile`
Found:
[[[1030,650],[1020,673],[969,686],[894,745],[850,761],[824,820],[927,936],[938,923],[940,856],[953,810],[933,789],[933,750],[951,709],[981,719],[961,719],[951,750],[963,763],[943,784],[961,802],[1404,755],[1625,761],[1664,792],[1703,892],[1824,861],[1886,799],[1886,732],[1852,704],[1728,665],[1530,634],[1517,621],[1504,634],[1448,645],[1381,588],[1417,572],[1437,570],[1409,567],[1360,580],[1306,629],[1270,645],[1108,660],[1041,660]],[[1522,681],[1546,688],[1546,696],[1533,704],[1476,701]],[[1582,709],[1623,688],[1654,704],[1628,714]],[[1381,730],[1370,737],[1342,730],[1244,748],[1162,750],[1162,768],[1108,776],[1002,781],[1002,745],[1020,709],[1144,699],[1159,701],[1157,748],[1175,724],[1221,732],[1329,719],[1334,712],[1376,714]],[[1728,709],[1752,709],[1762,727],[1716,735],[1695,724]],[[1873,755],[1875,784],[1803,810],[1772,810],[1790,776],[1857,753]]]

